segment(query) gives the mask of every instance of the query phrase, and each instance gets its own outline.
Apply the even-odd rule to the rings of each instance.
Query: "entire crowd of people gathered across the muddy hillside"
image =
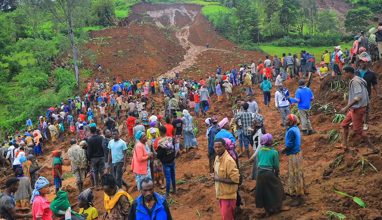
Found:
[[[373,40],[372,35],[375,34]],[[350,80],[348,105],[340,110],[346,114],[342,121],[343,140],[337,147],[358,150],[347,147],[349,125],[352,124],[354,132],[369,147],[364,156],[379,153],[364,130],[368,129],[371,87],[380,98],[376,74],[368,64],[379,59],[381,37],[382,23],[377,29],[369,30],[368,39],[364,32],[360,37],[355,36],[353,47],[345,53],[341,46],[335,47],[333,53],[325,51],[319,66],[314,55],[300,51],[300,56],[291,53],[286,56],[284,53],[281,59],[275,55],[272,61],[265,56],[264,62],[260,60],[257,65],[251,60],[248,66],[240,66],[239,70],[233,66],[223,73],[217,66],[216,74],[200,80],[181,79],[175,72],[174,77],[160,79],[140,80],[134,77],[120,80],[114,77],[112,82],[88,81],[84,94],[49,106],[46,114],[39,118],[26,117],[23,132],[5,134],[0,148],[0,169],[6,177],[5,167],[11,165],[15,177],[6,180],[5,191],[0,194],[0,218],[49,220],[54,215],[62,220],[70,217],[75,220],[107,217],[111,220],[172,219],[166,198],[177,194],[176,158],[193,148],[199,150],[196,135],[200,131],[190,112],[197,118],[203,115],[207,125],[205,144],[209,177],[215,183],[223,220],[236,219],[243,205],[239,190],[243,182],[239,157],[246,157],[252,163],[250,181],[256,181],[251,189],[256,191],[256,207],[264,209],[266,217],[276,210],[290,210],[283,205],[286,194],[295,196],[291,206],[298,206],[307,192],[298,126],[301,124],[302,135],[315,133],[309,118],[311,101],[314,100],[309,88],[313,74],[319,75],[319,82],[330,71],[334,76]],[[378,54],[373,46],[379,47]],[[352,66],[346,66],[346,58]],[[298,89],[295,97],[291,97],[283,81],[295,77],[299,79]],[[308,84],[304,80],[306,77]],[[272,81],[275,81],[273,85]],[[255,87],[257,84],[259,86]],[[233,117],[219,119],[214,114],[208,117],[212,97],[217,96],[217,104],[223,103],[224,99],[226,103],[232,103],[234,87],[244,88],[247,97],[245,101],[234,100]],[[280,125],[286,131],[285,148],[279,151],[273,146],[272,135],[266,132],[265,118],[259,114],[259,106],[254,100],[254,90],[261,90],[264,105],[270,107],[273,87],[277,88],[274,102],[280,112]],[[226,93],[226,98],[223,98],[223,93]],[[157,106],[162,101],[163,113]],[[290,111],[295,103],[299,117]],[[119,126],[121,122],[123,125]],[[125,130],[127,138],[122,140],[121,133]],[[53,201],[47,197],[50,182],[38,173],[42,167],[38,159],[47,154],[44,142],[46,144],[50,139],[53,145],[66,143],[65,136],[70,138],[67,154],[78,188],[78,213],[71,210],[68,194],[61,191],[64,180],[64,152],[61,149],[51,152],[56,194]],[[123,179],[129,154],[132,155],[131,170],[136,187],[141,192],[136,199],[128,194],[131,186]],[[278,177],[279,154],[286,154],[288,161],[285,189]],[[91,187],[85,189],[86,178],[91,180]],[[165,189],[164,195],[156,193],[155,187]],[[92,190],[105,193],[106,211],[101,216],[92,203]]]

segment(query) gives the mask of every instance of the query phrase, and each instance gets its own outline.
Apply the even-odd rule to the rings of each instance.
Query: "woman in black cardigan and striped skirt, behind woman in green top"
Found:
[[[253,114],[254,115],[254,114]],[[264,117],[262,115],[255,115],[253,120],[253,127],[248,129],[252,131],[252,141],[253,141],[253,155],[249,158],[249,162],[252,162],[252,172],[251,172],[251,180],[256,180],[257,175],[257,153],[262,148],[260,144],[260,140],[262,135],[266,134],[264,127]],[[256,185],[251,189],[251,191],[255,190]]]

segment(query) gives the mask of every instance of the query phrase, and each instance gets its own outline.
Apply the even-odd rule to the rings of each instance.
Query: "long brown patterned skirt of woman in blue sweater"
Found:
[[[288,184],[287,193],[304,195],[306,193],[303,154],[300,152],[288,155]]]

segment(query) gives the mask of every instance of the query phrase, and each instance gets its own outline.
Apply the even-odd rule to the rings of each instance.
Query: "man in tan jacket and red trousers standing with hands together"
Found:
[[[210,173],[210,178],[215,183],[216,198],[219,199],[222,219],[234,220],[240,173],[235,159],[225,149],[223,138],[217,138],[214,141],[214,149],[217,154],[214,164],[215,172]]]

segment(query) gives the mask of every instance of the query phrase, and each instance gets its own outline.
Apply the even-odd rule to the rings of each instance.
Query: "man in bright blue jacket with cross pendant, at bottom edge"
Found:
[[[172,220],[166,198],[154,192],[154,180],[149,177],[141,181],[141,193],[131,204],[128,220]]]

